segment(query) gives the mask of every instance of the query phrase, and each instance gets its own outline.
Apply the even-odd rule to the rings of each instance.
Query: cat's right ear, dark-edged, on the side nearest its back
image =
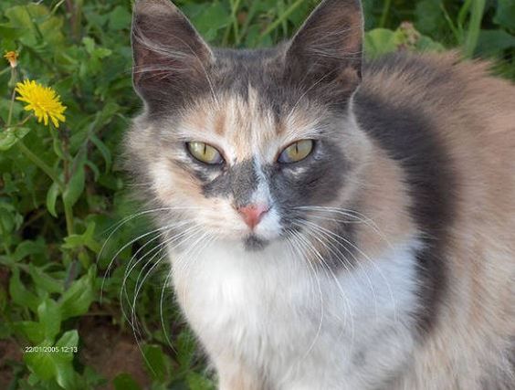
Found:
[[[291,39],[285,61],[295,78],[352,89],[362,77],[362,52],[361,2],[324,0]]]

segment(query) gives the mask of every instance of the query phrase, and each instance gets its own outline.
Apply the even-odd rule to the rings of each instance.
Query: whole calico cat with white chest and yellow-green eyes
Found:
[[[126,148],[223,390],[515,389],[515,87],[363,62],[358,0],[278,47],[136,2]]]

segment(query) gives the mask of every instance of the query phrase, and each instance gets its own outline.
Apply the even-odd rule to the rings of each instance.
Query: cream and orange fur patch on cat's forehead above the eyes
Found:
[[[176,130],[184,141],[207,142],[222,149],[229,161],[259,156],[268,162],[290,142],[317,138],[321,133],[316,108],[301,101],[277,110],[257,88],[246,94],[228,90],[198,100],[184,111]]]

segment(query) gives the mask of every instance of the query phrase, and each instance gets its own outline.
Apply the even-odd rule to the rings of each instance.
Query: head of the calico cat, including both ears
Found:
[[[320,206],[352,202],[369,149],[350,110],[362,78],[358,0],[326,0],[271,49],[207,46],[168,0],[136,3],[128,137],[160,220],[262,248]]]

